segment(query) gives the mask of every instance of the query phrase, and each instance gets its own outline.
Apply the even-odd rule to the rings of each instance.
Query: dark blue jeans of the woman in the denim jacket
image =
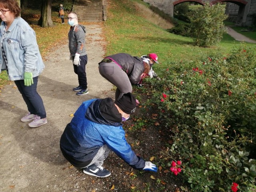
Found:
[[[24,80],[14,81],[18,90],[20,91],[25,103],[27,104],[30,114],[40,116],[40,118],[46,118],[46,111],[44,103],[38,92],[36,86],[38,82],[38,76],[33,78],[34,84],[31,86],[25,86]]]

